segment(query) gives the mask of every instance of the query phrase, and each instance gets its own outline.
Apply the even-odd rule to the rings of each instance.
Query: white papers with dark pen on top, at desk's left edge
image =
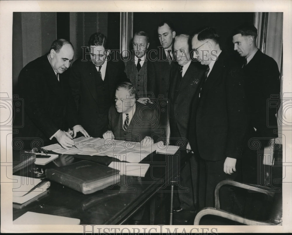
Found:
[[[44,193],[51,185],[49,181],[24,176],[13,176],[13,179],[16,181],[13,182],[12,201],[19,204]]]

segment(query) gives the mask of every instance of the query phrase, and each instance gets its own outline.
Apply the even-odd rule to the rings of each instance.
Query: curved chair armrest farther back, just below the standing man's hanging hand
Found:
[[[239,183],[239,182],[234,181],[234,180],[222,180],[221,182],[219,182],[216,185],[216,188],[215,188],[215,208],[216,209],[220,209],[219,190],[223,185],[232,185],[232,186],[244,188],[244,189],[247,189],[250,191],[261,192],[261,193],[267,194],[271,197],[274,197],[274,194],[275,194],[274,189],[272,189],[270,187]]]

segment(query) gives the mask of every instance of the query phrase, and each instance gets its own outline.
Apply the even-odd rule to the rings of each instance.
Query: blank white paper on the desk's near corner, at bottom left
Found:
[[[28,211],[13,221],[14,225],[79,225],[80,220]]]

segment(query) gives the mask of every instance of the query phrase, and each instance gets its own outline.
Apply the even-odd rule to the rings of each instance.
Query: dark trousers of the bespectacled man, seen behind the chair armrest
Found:
[[[226,179],[241,181],[241,159],[236,161],[236,172],[231,175],[224,173],[225,159],[220,161],[199,160],[199,208],[215,206],[215,187]],[[224,186],[219,192],[220,208],[232,212],[235,202],[233,187]]]

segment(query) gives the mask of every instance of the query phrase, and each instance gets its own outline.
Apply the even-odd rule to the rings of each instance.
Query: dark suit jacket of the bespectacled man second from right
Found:
[[[192,105],[190,146],[200,157],[219,161],[241,158],[248,126],[244,77],[221,52]]]

